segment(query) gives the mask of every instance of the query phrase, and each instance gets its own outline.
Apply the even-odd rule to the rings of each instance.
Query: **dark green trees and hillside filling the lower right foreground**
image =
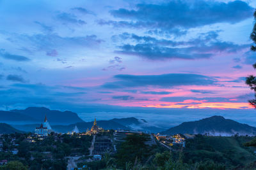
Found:
[[[186,148],[167,150],[157,144],[145,145],[147,134],[127,136],[115,154],[106,153],[102,160],[84,162],[89,169],[253,169],[256,160],[252,148],[243,145],[249,136],[202,136],[186,139]],[[250,168],[249,168],[250,167]]]

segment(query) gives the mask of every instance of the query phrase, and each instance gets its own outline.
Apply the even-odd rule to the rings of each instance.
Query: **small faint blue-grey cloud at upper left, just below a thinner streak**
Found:
[[[73,15],[71,13],[59,13],[57,15],[58,20],[64,22],[64,24],[77,24],[77,25],[84,25],[86,22],[84,20],[77,19],[76,15]]]

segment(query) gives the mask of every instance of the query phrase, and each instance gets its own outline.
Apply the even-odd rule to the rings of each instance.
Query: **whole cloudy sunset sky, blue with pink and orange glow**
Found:
[[[225,115],[253,125],[244,80],[255,73],[255,8],[250,0],[0,0],[0,109],[173,124]]]

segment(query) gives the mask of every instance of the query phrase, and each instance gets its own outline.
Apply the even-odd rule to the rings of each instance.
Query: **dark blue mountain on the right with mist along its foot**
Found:
[[[161,134],[210,134],[212,136],[232,136],[237,133],[252,136],[256,134],[256,128],[224,117],[213,116],[194,122],[184,122],[161,132]]]

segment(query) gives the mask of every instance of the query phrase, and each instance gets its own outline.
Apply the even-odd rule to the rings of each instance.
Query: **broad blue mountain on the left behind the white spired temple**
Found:
[[[30,117],[34,120],[33,122],[36,123],[43,122],[45,115],[51,124],[76,124],[77,122],[84,122],[72,111],[49,110],[44,107],[30,107],[25,110],[11,110],[10,112],[19,113],[20,115],[24,115],[24,117]],[[13,117],[13,119],[17,120],[18,118]]]

